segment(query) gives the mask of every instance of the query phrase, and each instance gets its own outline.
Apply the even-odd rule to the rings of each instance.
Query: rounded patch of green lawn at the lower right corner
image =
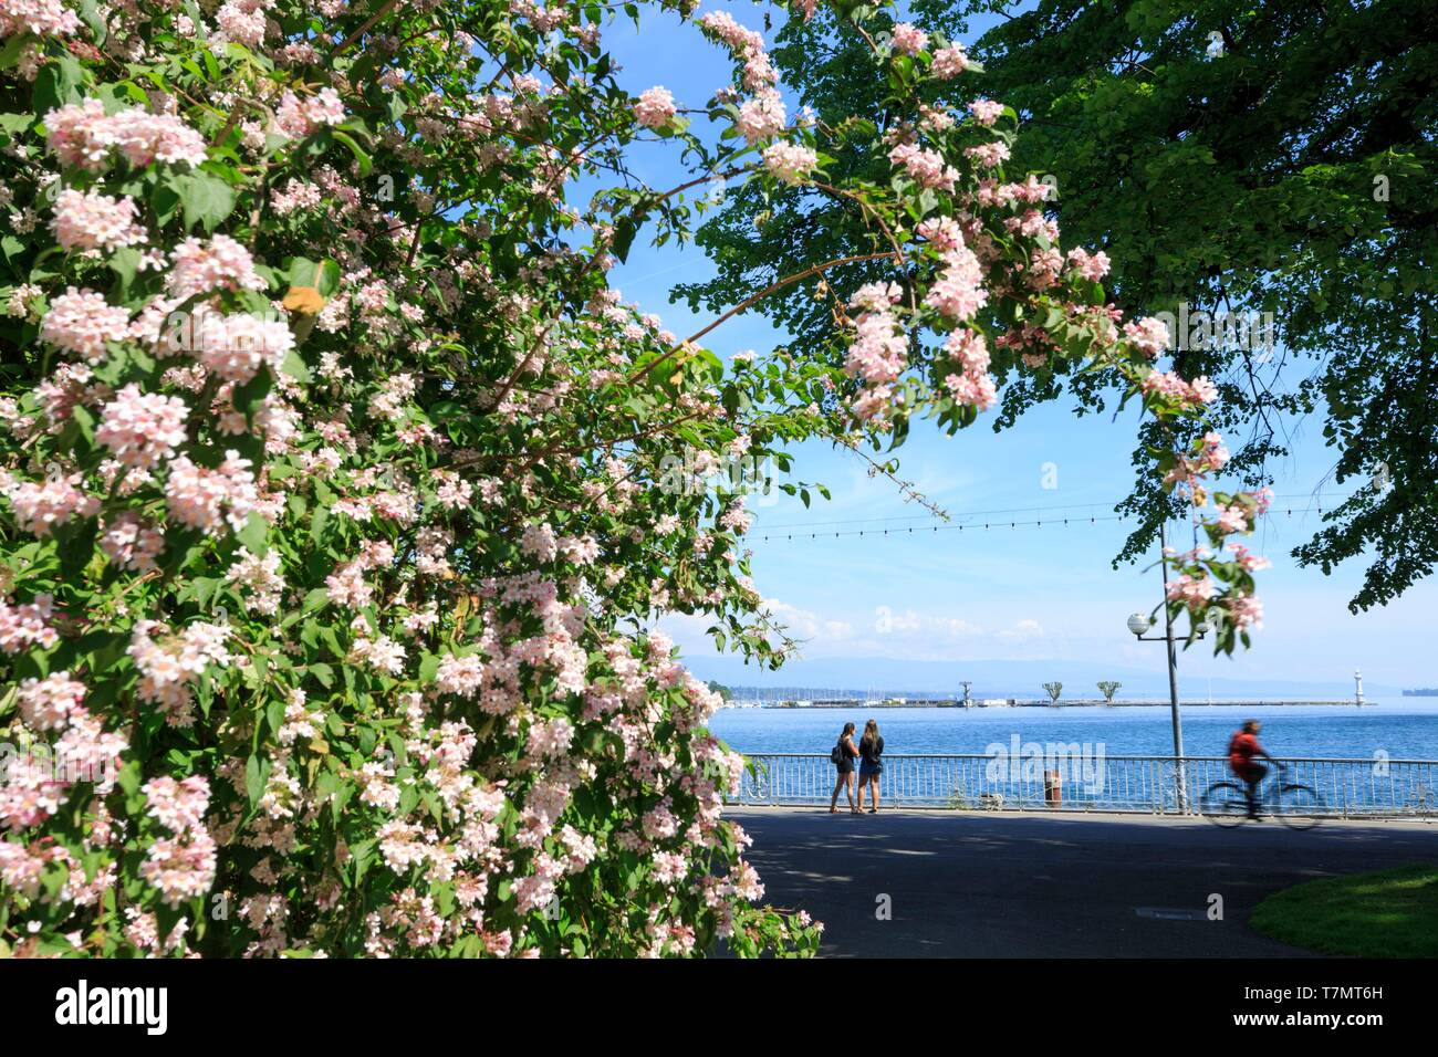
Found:
[[[1438,958],[1438,863],[1277,892],[1248,923],[1284,943],[1359,958]]]

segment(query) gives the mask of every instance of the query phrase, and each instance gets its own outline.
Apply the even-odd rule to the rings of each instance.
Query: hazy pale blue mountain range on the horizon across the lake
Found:
[[[982,697],[1041,697],[1041,683],[1058,680],[1066,697],[1097,697],[1096,683],[1113,679],[1123,683],[1119,697],[1168,697],[1168,673],[1081,660],[893,660],[890,657],[833,657],[800,660],[778,672],[745,664],[738,657],[686,659],[699,679],[712,679],[731,687],[794,690],[792,696],[830,696],[844,690],[863,695],[955,695],[963,693],[961,682],[974,683],[971,695]],[[1346,699],[1353,696],[1353,680],[1303,682],[1288,679],[1208,679],[1194,676],[1186,682],[1179,667],[1179,689],[1185,700],[1206,697],[1301,697]],[[1363,685],[1366,696],[1398,696],[1399,687]],[[789,695],[785,695],[789,696]]]

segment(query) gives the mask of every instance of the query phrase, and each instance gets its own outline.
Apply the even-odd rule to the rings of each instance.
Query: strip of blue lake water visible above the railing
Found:
[[[1345,706],[1183,706],[1183,749],[1189,756],[1221,756],[1244,719],[1263,720],[1261,741],[1274,756],[1438,759],[1438,700],[1378,699]],[[974,709],[722,709],[709,729],[739,752],[828,755],[846,722],[863,732],[877,719],[892,754],[984,754],[995,743],[1103,743],[1110,756],[1171,755],[1173,733],[1166,705],[1123,708]]]

